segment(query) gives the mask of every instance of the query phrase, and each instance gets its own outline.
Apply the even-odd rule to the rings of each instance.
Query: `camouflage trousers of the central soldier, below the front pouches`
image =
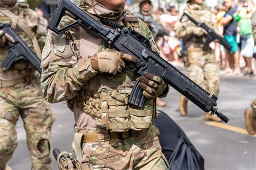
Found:
[[[152,124],[147,130],[131,131],[123,140],[85,143],[82,162],[95,169],[169,169],[158,136],[159,130]]]

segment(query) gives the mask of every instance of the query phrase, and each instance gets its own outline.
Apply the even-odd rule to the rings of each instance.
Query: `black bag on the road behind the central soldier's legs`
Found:
[[[170,169],[204,169],[204,158],[179,125],[162,111],[154,123],[160,131],[160,145]]]

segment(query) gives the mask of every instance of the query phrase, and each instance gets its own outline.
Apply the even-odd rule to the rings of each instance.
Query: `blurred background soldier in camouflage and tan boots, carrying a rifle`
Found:
[[[201,23],[206,23],[215,32],[218,32],[213,13],[204,8],[203,2],[203,0],[188,1],[189,4],[186,10],[194,19],[199,20]],[[206,31],[197,27],[188,19],[185,22],[177,23],[174,30],[176,37],[182,38],[185,42],[189,63],[188,72],[191,80],[207,89],[210,94],[218,95],[220,69],[217,61],[215,61],[212,49],[203,47]],[[183,95],[180,96],[179,110],[183,116],[187,114],[187,101],[187,98]],[[210,116],[209,113],[205,113],[205,121],[221,120],[215,115]]]

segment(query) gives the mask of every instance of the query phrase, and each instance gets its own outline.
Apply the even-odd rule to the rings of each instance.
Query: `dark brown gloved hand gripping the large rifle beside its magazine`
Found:
[[[140,81],[139,86],[143,89],[143,95],[149,99],[163,95],[167,87],[161,77],[150,73],[140,76]]]

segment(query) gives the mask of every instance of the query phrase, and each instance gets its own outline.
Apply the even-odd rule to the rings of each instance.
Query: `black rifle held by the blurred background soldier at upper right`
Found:
[[[221,37],[221,36],[219,36],[219,34],[215,33],[205,23],[197,22],[197,20],[192,18],[186,11],[183,12],[183,15],[180,18],[180,22],[182,22],[184,16],[186,16],[189,20],[191,20],[192,23],[196,24],[198,27],[201,27],[208,33],[206,36],[206,41],[204,42],[204,48],[207,48],[212,41],[217,39],[221,45],[223,45],[228,51],[231,51],[230,44],[228,44],[227,41],[223,37]]]

